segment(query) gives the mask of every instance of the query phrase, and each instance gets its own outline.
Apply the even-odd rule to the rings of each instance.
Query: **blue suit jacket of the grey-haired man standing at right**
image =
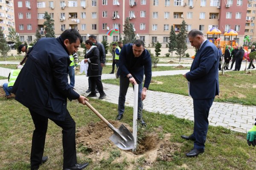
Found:
[[[186,73],[193,99],[214,98],[219,94],[218,63],[217,47],[206,40],[196,53],[190,72]]]

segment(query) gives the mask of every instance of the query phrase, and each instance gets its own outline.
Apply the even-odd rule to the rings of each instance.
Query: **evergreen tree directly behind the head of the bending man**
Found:
[[[133,43],[135,41],[134,28],[133,28],[132,24],[130,23],[128,17],[125,20],[123,33],[124,33],[123,44]]]

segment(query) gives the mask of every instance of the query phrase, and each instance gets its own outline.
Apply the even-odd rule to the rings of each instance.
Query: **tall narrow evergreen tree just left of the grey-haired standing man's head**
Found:
[[[180,58],[181,56],[185,55],[186,50],[188,49],[186,45],[186,37],[187,37],[187,31],[186,31],[186,22],[183,20],[180,25],[180,32],[177,35],[176,42],[177,42],[177,50],[176,55],[178,55]],[[179,61],[180,63],[180,61]]]

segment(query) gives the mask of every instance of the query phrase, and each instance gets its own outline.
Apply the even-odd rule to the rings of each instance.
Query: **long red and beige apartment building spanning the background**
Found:
[[[55,20],[56,37],[65,29],[74,28],[84,40],[94,34],[98,41],[110,43],[123,37],[123,24],[128,17],[135,35],[146,46],[158,41],[164,47],[171,26],[178,33],[182,20],[188,24],[188,31],[200,29],[205,35],[212,27],[222,34],[234,29],[239,34],[234,37],[239,44],[244,35],[255,38],[256,0],[15,0],[14,7],[15,28],[21,41],[34,40],[36,29],[44,36],[44,12]],[[120,29],[120,34],[107,35],[111,29]]]

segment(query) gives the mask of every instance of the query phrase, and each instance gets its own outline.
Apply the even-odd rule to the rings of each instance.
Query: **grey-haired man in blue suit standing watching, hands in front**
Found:
[[[204,152],[204,143],[208,131],[208,115],[215,95],[219,94],[217,47],[204,37],[203,32],[192,29],[188,34],[191,46],[198,49],[190,72],[183,76],[190,82],[189,93],[194,105],[194,131],[191,135],[181,135],[182,138],[194,141],[193,149],[186,156],[198,156]]]

